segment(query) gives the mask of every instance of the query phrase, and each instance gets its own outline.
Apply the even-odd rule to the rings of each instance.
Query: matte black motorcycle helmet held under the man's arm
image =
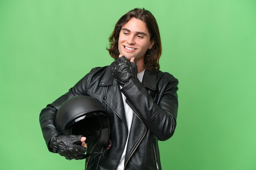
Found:
[[[108,116],[101,103],[89,96],[74,96],[58,109],[56,129],[61,135],[83,135],[86,143],[98,140],[107,147],[110,144]]]

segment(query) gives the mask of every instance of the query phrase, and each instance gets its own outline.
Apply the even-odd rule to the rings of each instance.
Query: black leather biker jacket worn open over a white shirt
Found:
[[[104,156],[88,157],[87,170],[116,170],[124,150],[128,129],[121,92],[126,96],[134,116],[125,157],[125,170],[161,170],[158,140],[169,139],[176,127],[177,84],[171,74],[145,70],[142,83],[135,78],[121,89],[111,74],[111,65],[94,68],[69,92],[47,105],[40,113],[40,125],[46,144],[58,131],[55,114],[61,104],[76,95],[92,96],[106,108],[110,119],[112,148]],[[103,148],[92,142],[87,153],[101,152]],[[49,148],[49,151],[52,151]]]

